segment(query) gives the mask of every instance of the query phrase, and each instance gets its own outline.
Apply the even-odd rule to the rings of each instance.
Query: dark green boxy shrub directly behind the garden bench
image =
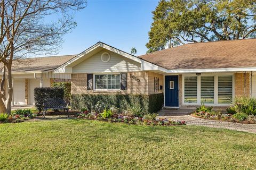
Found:
[[[35,106],[39,113],[43,110],[43,104],[49,98],[64,98],[64,90],[59,87],[40,87],[35,88]]]

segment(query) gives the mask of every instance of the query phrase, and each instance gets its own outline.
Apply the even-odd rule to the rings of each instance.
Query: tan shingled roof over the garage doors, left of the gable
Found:
[[[12,64],[13,72],[38,72],[53,70],[66,63],[76,55],[63,55],[51,57],[35,57],[14,61]]]

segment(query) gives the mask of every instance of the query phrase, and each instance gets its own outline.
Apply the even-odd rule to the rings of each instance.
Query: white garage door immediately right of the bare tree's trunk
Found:
[[[25,79],[14,79],[14,105],[25,105]]]

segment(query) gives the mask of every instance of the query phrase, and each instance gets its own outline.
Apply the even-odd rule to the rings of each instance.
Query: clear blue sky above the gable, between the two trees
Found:
[[[147,51],[148,31],[158,1],[87,0],[87,7],[75,13],[77,28],[65,35],[58,55],[78,54],[98,41],[137,55]]]

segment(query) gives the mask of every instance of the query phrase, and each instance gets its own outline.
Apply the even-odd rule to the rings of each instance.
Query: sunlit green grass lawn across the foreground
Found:
[[[0,124],[0,169],[254,169],[256,135],[88,120]]]

